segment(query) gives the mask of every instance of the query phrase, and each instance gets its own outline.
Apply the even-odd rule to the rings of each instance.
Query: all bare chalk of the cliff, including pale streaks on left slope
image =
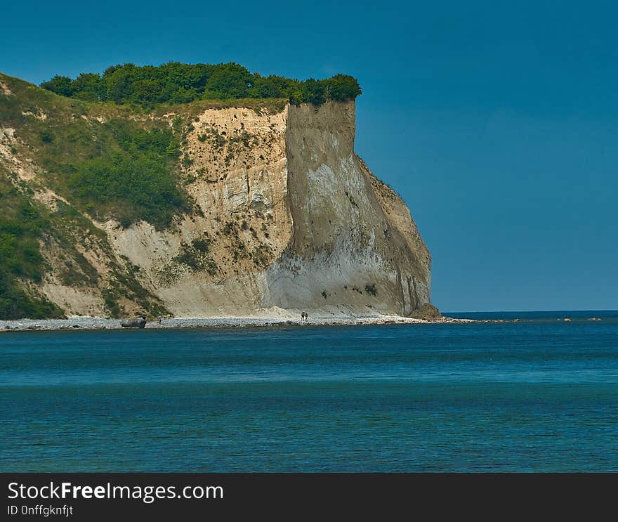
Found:
[[[15,96],[10,77],[0,80],[0,98]],[[89,111],[79,122],[88,128],[109,118]],[[28,112],[24,124],[53,126],[44,103]],[[409,210],[355,154],[354,101],[121,117],[171,128],[179,115],[190,124],[175,176],[192,207],[157,228],[74,204],[0,107],[0,177],[64,227],[42,233],[46,270],[18,278],[25,292],[67,315],[103,316],[410,315],[430,302],[430,254]]]

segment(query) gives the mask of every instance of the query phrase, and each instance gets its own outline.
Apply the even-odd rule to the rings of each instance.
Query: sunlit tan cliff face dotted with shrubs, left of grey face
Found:
[[[119,255],[144,269],[145,285],[177,317],[268,313],[265,269],[291,237],[287,202],[288,110],[209,109],[192,122],[183,177],[197,204],[175,226],[117,230]],[[197,248],[195,244],[197,242]]]

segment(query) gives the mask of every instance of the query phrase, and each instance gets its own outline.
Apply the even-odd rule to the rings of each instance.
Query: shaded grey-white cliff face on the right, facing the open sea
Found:
[[[289,107],[292,233],[266,270],[266,303],[407,315],[429,302],[429,252],[400,197],[355,155],[354,138],[353,102]]]

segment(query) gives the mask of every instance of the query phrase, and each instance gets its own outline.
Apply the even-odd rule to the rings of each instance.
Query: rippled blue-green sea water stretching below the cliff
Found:
[[[451,315],[0,334],[0,471],[618,471],[618,312]]]

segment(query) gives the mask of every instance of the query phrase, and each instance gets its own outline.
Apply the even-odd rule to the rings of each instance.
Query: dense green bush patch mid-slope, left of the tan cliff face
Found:
[[[69,176],[72,192],[94,214],[112,210],[123,226],[140,219],[169,224],[185,204],[171,173],[178,140],[170,129],[136,129],[121,120],[107,125],[119,150],[81,162]]]

